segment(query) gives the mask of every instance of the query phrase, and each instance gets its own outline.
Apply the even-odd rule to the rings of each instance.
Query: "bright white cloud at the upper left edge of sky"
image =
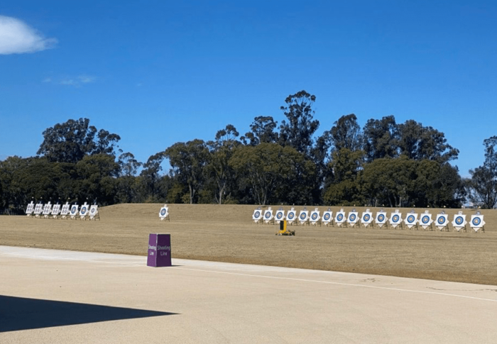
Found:
[[[53,48],[55,38],[45,38],[16,18],[0,16],[0,55],[22,54]]]

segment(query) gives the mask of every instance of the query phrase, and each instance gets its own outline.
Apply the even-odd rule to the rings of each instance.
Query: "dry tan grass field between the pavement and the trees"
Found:
[[[293,226],[295,236],[277,236],[278,226],[253,224],[255,206],[170,204],[165,222],[161,206],[107,206],[99,209],[101,221],[0,216],[0,245],[146,255],[148,233],[170,233],[176,258],[497,284],[496,210],[481,211],[485,233],[454,232],[452,224],[449,232]],[[385,210],[389,217],[393,209]],[[449,221],[459,210],[447,209]],[[410,209],[400,211],[405,218]],[[434,220],[439,211],[431,209]],[[475,211],[464,213],[469,221]]]

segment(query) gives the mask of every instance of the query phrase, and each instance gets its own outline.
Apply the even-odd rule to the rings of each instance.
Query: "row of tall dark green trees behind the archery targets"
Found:
[[[460,207],[497,203],[497,136],[484,140],[484,164],[463,179],[459,154],[444,133],[414,120],[356,115],[316,135],[316,97],[299,91],[281,106],[284,119],[253,119],[244,135],[231,124],[212,140],[178,142],[146,162],[119,149],[120,136],[89,119],[43,131],[34,157],[0,162],[0,209],[21,213],[51,200],[119,203],[307,204]],[[168,160],[170,170],[163,172]]]

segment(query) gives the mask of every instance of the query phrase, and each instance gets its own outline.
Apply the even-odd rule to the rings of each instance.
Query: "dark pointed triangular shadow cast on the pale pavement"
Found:
[[[0,333],[174,314],[0,295]]]

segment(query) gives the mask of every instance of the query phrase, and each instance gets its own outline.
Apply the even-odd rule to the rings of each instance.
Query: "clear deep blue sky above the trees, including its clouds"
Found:
[[[3,1],[0,159],[89,118],[138,160],[315,94],[318,133],[394,115],[445,133],[462,176],[497,135],[496,1]]]

